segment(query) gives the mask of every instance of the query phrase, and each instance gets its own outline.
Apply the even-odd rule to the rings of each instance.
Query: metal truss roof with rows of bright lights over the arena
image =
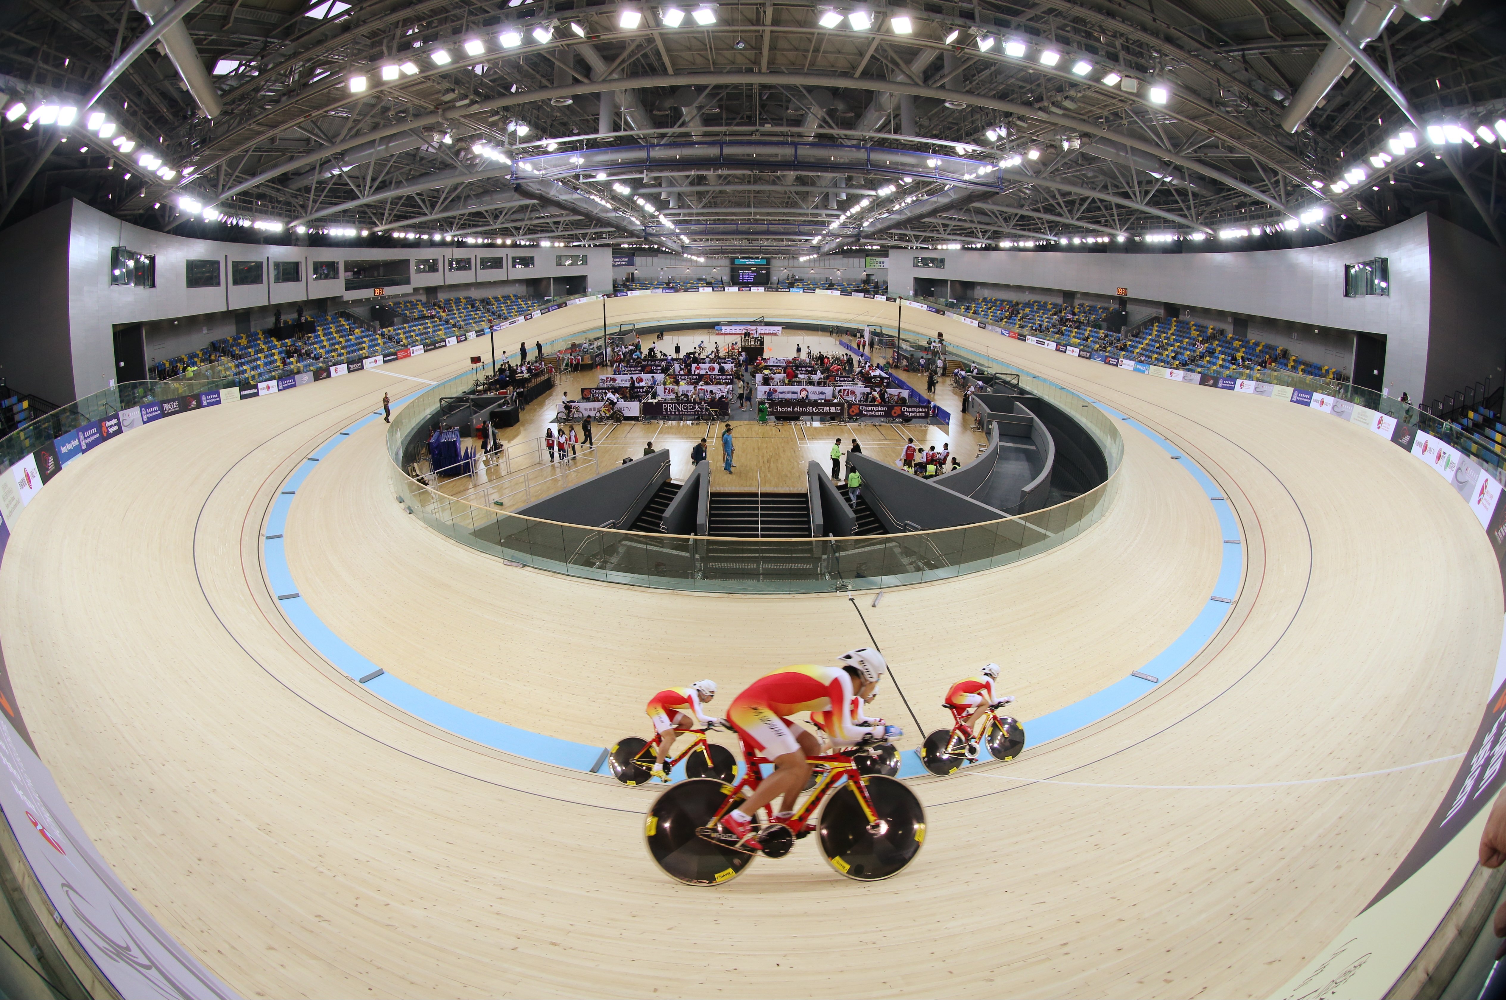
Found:
[[[812,255],[1506,208],[1477,2],[17,0],[0,74],[8,223]]]

